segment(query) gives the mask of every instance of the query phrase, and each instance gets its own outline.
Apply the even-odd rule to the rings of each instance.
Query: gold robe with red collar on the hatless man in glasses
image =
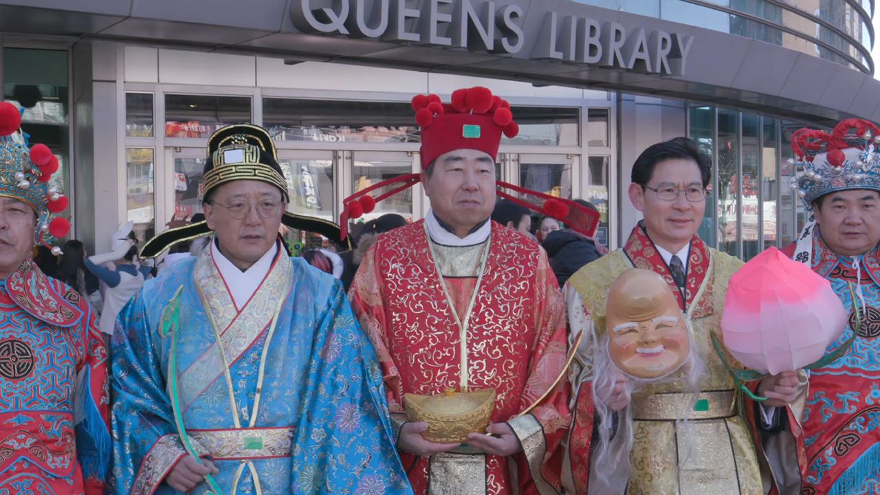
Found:
[[[641,268],[663,275],[692,326],[693,350],[700,352],[708,370],[700,382],[699,407],[689,411],[691,420],[687,426],[677,425],[675,421],[685,417],[685,411],[691,409],[693,403],[693,395],[685,393],[681,380],[657,384],[633,396],[629,407],[634,417],[634,444],[627,495],[763,495],[770,487],[769,469],[764,470],[762,480],[766,462],[763,455],[759,456],[754,440],[753,403],[740,407],[742,399],[735,390],[733,376],[716,354],[710,338],[715,333],[719,341],[722,340],[720,324],[727,283],[742,264],[694,237],[683,295],[672,281],[663,257],[639,225],[623,249],[591,262],[568,281],[566,292],[576,291],[575,297],[568,298],[571,334],[575,336],[581,331],[589,335],[592,324],[596,325],[598,334],[605,332],[607,293],[623,271]],[[588,492],[590,478],[594,419],[590,351],[583,346],[578,351],[578,365],[573,366],[571,375],[576,387],[575,416],[563,482],[568,491],[577,494]],[[729,354],[727,361],[739,366]],[[744,415],[740,411],[744,411]],[[790,409],[785,412],[797,426],[795,412]],[[687,446],[683,443],[684,427],[690,428],[689,441],[693,448],[690,455],[686,454]]]

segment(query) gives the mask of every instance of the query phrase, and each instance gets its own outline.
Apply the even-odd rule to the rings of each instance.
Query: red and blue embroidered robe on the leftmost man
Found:
[[[0,494],[100,495],[107,352],[79,293],[27,260],[0,283]]]

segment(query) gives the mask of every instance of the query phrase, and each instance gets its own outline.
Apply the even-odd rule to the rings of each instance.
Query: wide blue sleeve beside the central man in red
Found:
[[[412,495],[394,445],[376,352],[339,281],[315,336],[300,406],[292,486],[309,495]],[[314,484],[309,473],[324,473]],[[298,491],[297,491],[298,492]]]

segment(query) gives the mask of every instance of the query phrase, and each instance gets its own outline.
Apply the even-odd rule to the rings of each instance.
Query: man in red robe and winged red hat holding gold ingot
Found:
[[[495,181],[495,156],[502,132],[515,136],[517,124],[486,88],[458,90],[451,105],[419,95],[413,107],[423,172],[391,182],[422,181],[431,209],[379,236],[349,292],[378,351],[404,468],[417,494],[559,493],[570,417],[561,292],[544,250],[489,219],[496,193],[513,197]],[[387,185],[348,198],[343,225],[375,204],[363,193]],[[589,216],[564,200],[517,192],[535,210]],[[495,388],[491,435],[440,444],[422,437],[427,424],[407,422],[404,394],[448,388]]]

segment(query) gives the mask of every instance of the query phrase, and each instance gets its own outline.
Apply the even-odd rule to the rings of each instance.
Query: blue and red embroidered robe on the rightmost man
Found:
[[[794,255],[794,245],[783,252]],[[804,495],[880,493],[880,254],[839,256],[813,232],[813,271],[828,279],[849,326],[828,351],[858,332],[849,350],[810,373],[803,413],[807,449]],[[852,286],[852,292],[850,292]],[[854,308],[861,312],[856,327]]]

